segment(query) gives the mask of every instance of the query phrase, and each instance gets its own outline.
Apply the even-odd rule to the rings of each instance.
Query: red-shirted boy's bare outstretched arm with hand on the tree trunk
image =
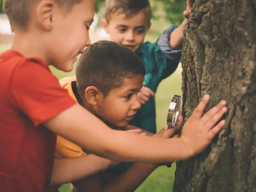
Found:
[[[226,102],[220,102],[203,115],[209,100],[209,95],[202,99],[185,123],[180,138],[161,139],[112,130],[78,104],[44,124],[54,133],[109,159],[154,163],[179,161],[200,153],[224,126],[223,121],[215,124],[226,112]]]

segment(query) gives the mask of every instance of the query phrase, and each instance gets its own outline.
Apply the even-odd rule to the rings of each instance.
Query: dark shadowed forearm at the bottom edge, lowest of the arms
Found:
[[[103,186],[102,192],[134,192],[156,169],[149,163],[136,163],[127,172]]]

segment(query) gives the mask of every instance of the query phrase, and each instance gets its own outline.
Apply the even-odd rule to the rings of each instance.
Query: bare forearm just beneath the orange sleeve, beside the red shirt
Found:
[[[51,184],[65,184],[108,169],[113,161],[94,154],[55,159]]]

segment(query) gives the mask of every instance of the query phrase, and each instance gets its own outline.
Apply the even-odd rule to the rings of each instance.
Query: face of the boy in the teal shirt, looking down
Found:
[[[143,11],[129,18],[123,13],[113,14],[109,23],[102,20],[102,26],[112,41],[136,51],[144,41],[148,30],[148,20]]]

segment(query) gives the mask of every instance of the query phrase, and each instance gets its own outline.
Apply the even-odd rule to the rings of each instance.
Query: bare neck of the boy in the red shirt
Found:
[[[47,62],[44,43],[40,34],[17,31],[14,34],[11,50],[18,51],[24,57],[36,57]]]

